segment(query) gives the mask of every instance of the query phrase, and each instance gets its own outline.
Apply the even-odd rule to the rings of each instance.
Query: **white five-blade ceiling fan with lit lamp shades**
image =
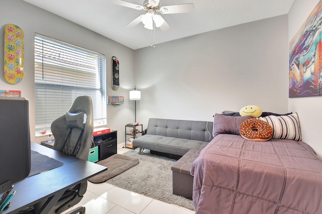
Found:
[[[121,5],[127,8],[136,9],[139,11],[145,11],[144,15],[140,15],[135,20],[130,22],[126,27],[134,27],[140,22],[144,24],[144,28],[153,30],[153,25],[160,28],[162,31],[168,31],[170,26],[162,18],[162,16],[157,13],[162,14],[179,14],[179,13],[190,13],[194,9],[194,5],[182,4],[182,5],[170,5],[170,6],[159,6],[160,0],[145,0],[143,6],[136,5],[133,3],[125,2],[123,0],[113,0],[112,3],[116,5]]]

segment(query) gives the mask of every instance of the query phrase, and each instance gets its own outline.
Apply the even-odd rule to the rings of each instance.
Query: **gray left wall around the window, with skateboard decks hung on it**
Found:
[[[86,48],[106,55],[107,60],[107,95],[124,96],[122,105],[107,106],[107,127],[118,130],[118,143],[124,142],[124,125],[134,121],[134,105],[128,101],[128,91],[133,88],[134,51],[115,41],[96,34],[79,25],[62,19],[47,11],[32,6],[22,0],[1,0],[0,32],[4,32],[6,24],[15,24],[25,32],[25,77],[19,84],[7,83],[4,75],[0,75],[0,89],[21,90],[22,96],[30,101],[31,140],[37,143],[47,137],[36,138],[35,133],[35,90],[34,90],[34,37],[35,32],[61,40],[63,42]],[[110,26],[106,26],[110,27]],[[4,33],[0,33],[0,41],[4,41]],[[4,50],[0,42],[0,49]],[[0,58],[3,58],[3,51]],[[120,61],[120,88],[112,90],[112,56]],[[3,60],[0,67],[3,68]],[[67,110],[66,110],[67,111]]]

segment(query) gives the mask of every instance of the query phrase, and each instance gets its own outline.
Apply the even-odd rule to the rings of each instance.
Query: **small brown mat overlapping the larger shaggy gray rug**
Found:
[[[97,164],[107,167],[107,170],[91,177],[89,181],[93,183],[103,183],[106,180],[121,174],[139,163],[139,159],[123,156],[120,154],[112,155],[104,160],[96,162]]]

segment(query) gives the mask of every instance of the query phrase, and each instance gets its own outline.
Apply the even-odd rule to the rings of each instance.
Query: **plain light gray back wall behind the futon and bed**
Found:
[[[212,121],[249,104],[287,113],[287,23],[284,15],[136,50],[137,121]]]

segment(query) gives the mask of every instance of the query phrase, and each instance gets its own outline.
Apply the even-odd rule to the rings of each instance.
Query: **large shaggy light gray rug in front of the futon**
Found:
[[[175,159],[137,151],[124,156],[138,158],[139,164],[106,182],[132,192],[194,210],[192,200],[172,194],[172,170]]]

